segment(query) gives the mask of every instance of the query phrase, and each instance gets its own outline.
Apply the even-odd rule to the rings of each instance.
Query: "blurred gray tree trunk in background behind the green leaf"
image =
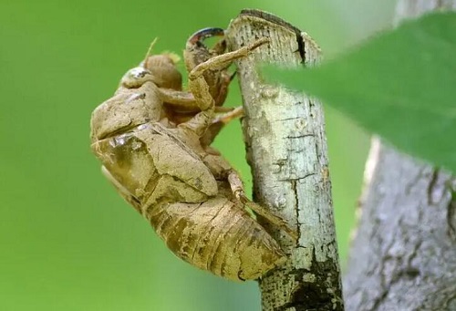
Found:
[[[399,0],[396,21],[455,8]],[[344,279],[348,310],[456,310],[455,189],[448,172],[373,139]]]

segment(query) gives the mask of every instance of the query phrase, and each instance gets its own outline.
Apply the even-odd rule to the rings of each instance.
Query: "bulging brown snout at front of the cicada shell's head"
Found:
[[[157,87],[182,89],[182,75],[175,65],[178,58],[171,53],[152,55],[147,58],[144,67],[152,74],[153,82]]]

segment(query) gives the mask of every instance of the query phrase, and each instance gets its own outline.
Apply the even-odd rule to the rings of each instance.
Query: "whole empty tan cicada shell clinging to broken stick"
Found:
[[[226,68],[268,40],[230,53],[215,49],[204,56],[201,39],[220,33],[214,29],[218,28],[197,32],[187,43],[189,92],[181,91],[176,82],[177,70],[173,73],[170,67],[163,74],[150,61],[163,55],[148,57],[131,69],[116,95],[92,114],[92,150],[109,181],[150,221],[174,254],[215,275],[256,279],[285,255],[245,207],[294,237],[295,232],[245,197],[237,172],[206,143],[216,131],[203,136],[212,126],[215,104],[221,105],[226,96]],[[169,55],[164,56],[169,59],[164,63],[174,65]],[[165,109],[166,104],[171,108]],[[183,115],[187,120],[181,119]]]

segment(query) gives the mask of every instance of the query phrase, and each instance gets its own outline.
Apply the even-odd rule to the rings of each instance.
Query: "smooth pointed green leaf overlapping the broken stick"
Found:
[[[305,70],[267,67],[412,155],[456,172],[456,14],[380,34]]]

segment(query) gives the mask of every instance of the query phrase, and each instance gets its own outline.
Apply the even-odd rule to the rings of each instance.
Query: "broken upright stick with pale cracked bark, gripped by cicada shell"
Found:
[[[264,36],[271,44],[237,63],[254,199],[297,227],[299,240],[268,228],[289,259],[260,280],[263,310],[343,310],[322,105],[265,84],[255,68],[312,66],[320,51],[305,33],[258,11],[243,11],[226,37],[233,50]]]

